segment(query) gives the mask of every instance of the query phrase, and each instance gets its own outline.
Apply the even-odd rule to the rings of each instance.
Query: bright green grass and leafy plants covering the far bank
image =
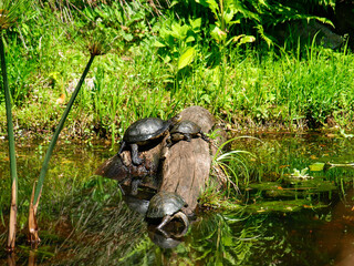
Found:
[[[77,9],[33,2],[31,14],[4,37],[15,134],[48,137],[54,131],[86,61],[82,32],[93,27],[114,40],[113,50],[88,72],[64,129],[69,137],[97,135],[114,144],[139,117],[166,119],[195,104],[246,131],[352,125],[353,54],[295,34],[277,39],[273,27],[315,17],[261,2],[158,9],[145,1],[72,2]],[[4,125],[0,120],[2,135]]]

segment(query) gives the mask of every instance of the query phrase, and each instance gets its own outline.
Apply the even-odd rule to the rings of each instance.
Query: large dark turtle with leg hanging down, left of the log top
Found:
[[[146,145],[150,141],[163,136],[179,120],[179,115],[176,115],[167,121],[158,117],[146,117],[134,122],[124,133],[118,154],[128,144],[131,145],[133,164],[140,165],[143,160],[138,156],[138,146]]]

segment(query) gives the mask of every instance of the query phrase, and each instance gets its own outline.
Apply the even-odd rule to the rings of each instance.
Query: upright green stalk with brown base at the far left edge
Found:
[[[15,166],[15,151],[14,151],[14,135],[11,113],[11,95],[8,82],[7,62],[4,57],[2,32],[0,35],[0,58],[1,58],[1,73],[6,99],[7,122],[8,122],[8,137],[9,137],[9,156],[10,156],[10,175],[11,175],[11,207],[9,222],[9,237],[7,249],[13,252],[15,245],[15,225],[18,212],[18,173]]]

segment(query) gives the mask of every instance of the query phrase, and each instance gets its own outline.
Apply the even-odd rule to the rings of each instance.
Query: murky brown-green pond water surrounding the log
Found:
[[[230,188],[225,211],[200,212],[186,236],[170,241],[174,248],[155,244],[160,237],[122,201],[114,181],[93,175],[117,149],[61,143],[41,198],[42,243],[31,252],[27,208],[46,144],[21,145],[18,249],[12,260],[1,250],[0,265],[354,265],[354,140],[320,133],[256,137],[238,139],[232,147],[254,154],[240,171],[249,182],[239,182],[239,194]],[[1,143],[2,246],[6,149]]]

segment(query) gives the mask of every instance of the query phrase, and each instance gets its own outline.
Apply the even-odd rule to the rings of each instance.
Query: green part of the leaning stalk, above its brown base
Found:
[[[52,153],[53,153],[53,150],[55,147],[59,134],[60,134],[60,132],[62,131],[62,129],[64,126],[64,123],[65,123],[65,120],[66,120],[66,117],[69,115],[69,112],[70,112],[70,110],[71,110],[71,108],[72,108],[72,105],[73,105],[73,103],[75,101],[75,98],[76,98],[76,95],[77,95],[77,93],[79,93],[79,91],[80,91],[80,89],[81,89],[81,86],[82,86],[87,73],[88,73],[90,66],[91,66],[94,58],[95,58],[95,54],[92,54],[90,60],[88,60],[88,63],[87,63],[87,65],[86,65],[86,68],[84,70],[84,72],[83,72],[83,74],[82,74],[82,76],[81,76],[81,79],[80,79],[80,81],[79,81],[79,83],[77,83],[77,85],[75,88],[75,91],[73,92],[73,94],[72,94],[72,96],[71,96],[71,99],[70,99],[70,101],[69,101],[69,103],[66,105],[66,109],[65,109],[65,111],[64,111],[64,113],[62,115],[62,119],[59,122],[59,125],[58,125],[58,127],[56,127],[56,130],[55,130],[55,132],[53,134],[52,141],[49,144],[49,147],[48,147],[48,151],[46,151],[46,154],[45,154],[45,157],[44,157],[44,162],[43,162],[43,165],[42,165],[42,170],[41,170],[41,173],[40,173],[40,176],[39,176],[39,181],[38,181],[38,184],[37,184],[37,187],[35,187],[33,205],[38,205],[38,202],[40,200],[40,194],[42,192],[44,177],[45,177],[45,174],[48,172],[49,161],[50,161],[50,158],[52,156]]]

